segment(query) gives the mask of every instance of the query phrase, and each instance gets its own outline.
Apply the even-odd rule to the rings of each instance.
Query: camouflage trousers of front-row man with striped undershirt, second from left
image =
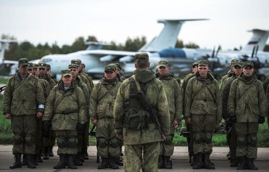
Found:
[[[77,131],[54,130],[58,145],[57,154],[77,154]]]

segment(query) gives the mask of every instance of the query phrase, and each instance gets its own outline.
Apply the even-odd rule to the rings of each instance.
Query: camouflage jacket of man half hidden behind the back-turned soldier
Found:
[[[159,73],[156,77],[162,82],[164,86],[165,95],[168,100],[170,120],[180,119],[182,113],[182,92],[179,84],[172,74],[168,74],[167,77],[162,78]]]

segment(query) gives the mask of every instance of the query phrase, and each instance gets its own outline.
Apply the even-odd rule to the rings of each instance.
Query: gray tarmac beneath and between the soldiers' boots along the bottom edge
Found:
[[[53,148],[53,152],[56,155],[57,147]],[[28,169],[23,166],[19,169],[10,170],[9,165],[14,162],[12,145],[0,145],[0,172],[124,172],[123,166],[120,166],[118,170],[97,170],[99,163],[96,163],[96,147],[90,146],[88,152],[90,159],[85,160],[83,166],[78,167],[78,170],[54,170],[53,166],[59,162],[59,156],[57,155],[49,157],[49,159],[44,160],[43,163],[39,163],[36,169]],[[236,168],[231,168],[226,158],[227,152],[227,147],[213,147],[211,161],[215,163],[216,170],[214,170],[214,172],[251,172],[250,170],[237,171]],[[173,160],[173,169],[160,169],[159,172],[208,172],[208,170],[205,169],[192,169],[189,165],[187,147],[175,147],[174,155],[171,159]],[[258,148],[258,158],[254,163],[259,168],[259,172],[269,172],[269,148]]]

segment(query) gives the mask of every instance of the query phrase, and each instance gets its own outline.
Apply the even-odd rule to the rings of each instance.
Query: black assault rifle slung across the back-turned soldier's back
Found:
[[[156,128],[158,129],[159,133],[161,134],[161,137],[166,140],[164,132],[160,126],[160,123],[158,121],[157,115],[156,113],[153,111],[151,104],[149,103],[147,97],[145,96],[145,94],[143,93],[143,91],[138,90],[137,91],[137,96],[140,99],[142,105],[144,106],[144,108],[146,109],[146,111],[150,114],[150,118],[151,120],[155,123]]]

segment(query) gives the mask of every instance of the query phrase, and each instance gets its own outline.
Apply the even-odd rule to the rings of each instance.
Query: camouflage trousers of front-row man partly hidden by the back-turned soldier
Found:
[[[160,155],[164,156],[172,156],[174,153],[174,144],[173,144],[173,138],[175,134],[175,127],[172,126],[173,123],[171,123],[170,126],[170,134],[167,135],[166,141],[160,142]]]

